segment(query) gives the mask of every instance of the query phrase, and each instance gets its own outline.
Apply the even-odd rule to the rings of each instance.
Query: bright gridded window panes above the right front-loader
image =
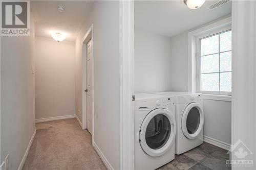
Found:
[[[198,91],[231,92],[231,30],[198,38]]]

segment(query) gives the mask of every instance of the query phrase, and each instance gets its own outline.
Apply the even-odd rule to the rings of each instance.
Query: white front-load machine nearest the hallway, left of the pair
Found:
[[[156,169],[174,160],[174,97],[135,94],[135,169]]]

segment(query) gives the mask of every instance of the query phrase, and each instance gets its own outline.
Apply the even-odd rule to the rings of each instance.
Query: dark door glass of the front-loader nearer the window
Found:
[[[200,125],[200,113],[199,110],[196,107],[193,107],[189,110],[187,114],[187,132],[189,134],[193,134],[198,130],[198,127]]]

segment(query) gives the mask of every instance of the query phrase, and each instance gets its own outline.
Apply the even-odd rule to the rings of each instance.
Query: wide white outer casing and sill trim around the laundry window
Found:
[[[210,23],[209,25],[203,26],[197,30],[188,32],[188,92],[202,92],[200,89],[201,85],[198,85],[199,75],[199,64],[197,55],[197,44],[199,44],[199,37],[205,37],[214,33],[221,32],[222,30],[231,29],[231,16]],[[198,57],[197,57],[198,56]],[[220,101],[231,101],[231,92],[214,92],[214,91],[203,91],[203,98],[210,100]]]

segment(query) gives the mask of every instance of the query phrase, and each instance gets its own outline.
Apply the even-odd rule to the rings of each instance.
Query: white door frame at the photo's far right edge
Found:
[[[255,130],[255,1],[232,2],[232,104],[231,104],[231,160],[237,160],[233,147],[238,142],[247,145],[253,153],[250,160],[256,162]],[[246,19],[245,19],[246,18]],[[251,26],[251,27],[249,27]],[[243,30],[243,28],[249,28]],[[254,34],[251,34],[254,33]],[[248,35],[250,36],[249,38]],[[241,57],[246,56],[246,57]],[[232,169],[243,167],[232,166]],[[245,168],[244,168],[245,169]],[[248,169],[250,169],[248,167]]]

